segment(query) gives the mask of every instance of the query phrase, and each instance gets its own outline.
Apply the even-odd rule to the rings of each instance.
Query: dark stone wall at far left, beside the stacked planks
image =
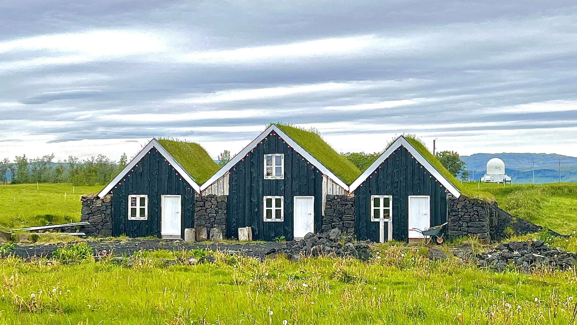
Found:
[[[80,221],[88,221],[88,226],[82,226],[80,231],[87,236],[112,236],[112,195],[99,198],[96,195],[82,195],[82,212]]]

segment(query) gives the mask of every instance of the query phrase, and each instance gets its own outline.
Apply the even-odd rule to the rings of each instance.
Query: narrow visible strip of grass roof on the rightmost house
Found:
[[[461,194],[471,199],[486,202],[495,201],[495,197],[493,196],[493,194],[487,191],[471,189],[470,187],[466,187],[464,186],[463,183],[459,182],[459,180],[451,172],[449,172],[448,169],[443,166],[443,164],[441,164],[441,161],[437,157],[433,156],[432,153],[429,152],[429,149],[427,149],[427,147],[424,145],[424,143],[421,142],[420,139],[412,135],[404,135],[404,138],[407,139],[407,141],[413,147],[415,147],[415,149],[417,149],[417,151],[423,157],[425,157],[425,159],[429,161],[429,163],[433,165],[433,167],[436,168],[437,171],[441,173],[441,175],[443,175],[449,182],[451,182],[451,184],[453,184],[453,186],[455,186]]]

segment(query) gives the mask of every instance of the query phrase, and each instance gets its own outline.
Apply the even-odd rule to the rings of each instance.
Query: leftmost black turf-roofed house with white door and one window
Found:
[[[198,184],[218,169],[197,143],[152,139],[98,194],[112,194],[113,236],[183,238]]]

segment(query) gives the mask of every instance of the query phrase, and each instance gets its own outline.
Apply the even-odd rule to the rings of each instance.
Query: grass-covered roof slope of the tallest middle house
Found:
[[[361,175],[361,171],[353,162],[332,149],[318,132],[302,130],[286,124],[275,123],[275,125],[347,185],[353,183]]]

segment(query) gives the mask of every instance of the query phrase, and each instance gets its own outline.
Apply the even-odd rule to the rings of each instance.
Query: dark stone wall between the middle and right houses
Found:
[[[355,198],[347,195],[327,195],[321,232],[338,229],[343,234],[355,233]]]

